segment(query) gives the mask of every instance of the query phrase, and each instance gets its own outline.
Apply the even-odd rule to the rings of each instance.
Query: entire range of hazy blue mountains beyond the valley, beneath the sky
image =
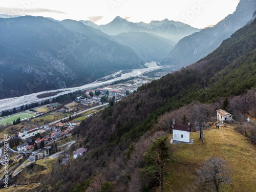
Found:
[[[152,60],[187,66],[218,48],[252,20],[255,10],[255,1],[241,0],[233,14],[202,30],[168,19],[145,24],[117,16],[97,26],[83,20],[2,15],[0,98],[80,86],[116,71],[144,68]],[[183,37],[178,44],[170,40],[176,37]]]

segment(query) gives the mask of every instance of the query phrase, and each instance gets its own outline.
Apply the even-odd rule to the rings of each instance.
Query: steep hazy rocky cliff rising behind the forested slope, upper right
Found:
[[[198,61],[218,48],[224,39],[246,25],[255,10],[255,0],[241,0],[236,11],[216,26],[182,38],[161,63],[184,67]]]

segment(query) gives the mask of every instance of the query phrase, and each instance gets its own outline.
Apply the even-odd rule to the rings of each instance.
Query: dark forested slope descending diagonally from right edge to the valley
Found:
[[[75,186],[83,191],[85,180],[108,168],[110,162],[120,161],[112,169],[113,175],[122,172],[125,168],[122,161],[129,160],[127,151],[133,151],[131,143],[151,130],[160,115],[193,100],[210,103],[255,87],[255,29],[256,20],[194,65],[142,86],[136,93],[83,121],[74,134],[86,141],[90,152],[66,168],[54,169],[50,185],[57,191],[68,191],[80,183]],[[124,174],[119,177],[123,187],[120,191],[127,191],[129,181],[133,180],[129,177]],[[55,188],[58,180],[62,185]]]

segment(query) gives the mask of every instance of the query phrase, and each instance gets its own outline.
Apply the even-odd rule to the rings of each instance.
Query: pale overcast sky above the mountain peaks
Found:
[[[0,0],[0,13],[91,20],[98,25],[110,23],[116,16],[144,23],[167,18],[204,28],[233,13],[238,3],[239,0]]]

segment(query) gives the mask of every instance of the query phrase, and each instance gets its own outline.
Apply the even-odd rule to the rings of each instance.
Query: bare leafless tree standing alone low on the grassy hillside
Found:
[[[198,171],[203,182],[214,183],[217,192],[219,191],[220,183],[231,182],[231,179],[228,177],[228,172],[230,172],[230,168],[226,161],[216,157],[210,157]]]

